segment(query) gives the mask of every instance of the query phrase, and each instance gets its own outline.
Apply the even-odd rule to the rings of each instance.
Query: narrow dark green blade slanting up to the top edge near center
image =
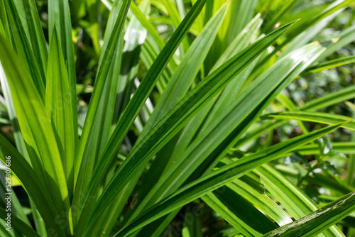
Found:
[[[124,114],[122,114],[121,118],[119,119],[119,122],[116,128],[114,129],[114,132],[112,133],[109,142],[107,143],[104,149],[104,152],[102,153],[101,157],[97,162],[98,165],[95,168],[93,180],[88,189],[90,193],[96,193],[95,190],[97,189],[98,184],[101,182],[102,177],[104,177],[104,173],[111,164],[114,155],[116,155],[116,152],[118,151],[122,140],[124,140],[126,133],[129,131],[131,124],[138,115],[138,112],[141,110],[144,102],[148,98],[153,87],[155,86],[155,82],[158,80],[158,77],[160,77],[170,58],[173,56],[173,53],[175,53],[175,50],[178,48],[178,45],[180,45],[182,38],[185,37],[185,34],[192,26],[192,23],[194,22],[195,18],[200,13],[205,1],[206,0],[198,1],[192,7],[187,16],[184,18],[184,21],[182,21],[182,23],[180,24],[180,27],[175,31],[173,36],[165,45],[165,48],[158,55],[158,58],[154,61],[152,67],[146,73],[136,92],[133,94],[131,101],[129,101],[129,104],[126,107]],[[90,104],[92,104],[92,102]],[[88,116],[89,113],[87,114],[86,119],[88,119]],[[122,170],[123,167],[124,166],[120,166],[119,169]],[[129,180],[126,179],[126,181]],[[124,184],[121,188],[126,186],[126,184]],[[93,210],[89,210],[89,208],[87,208],[87,211],[93,213]],[[102,209],[102,211],[104,211],[104,209]],[[95,215],[98,215],[98,213],[95,212]],[[84,219],[82,219],[82,221],[84,221]],[[82,223],[82,225],[84,225],[84,222]]]

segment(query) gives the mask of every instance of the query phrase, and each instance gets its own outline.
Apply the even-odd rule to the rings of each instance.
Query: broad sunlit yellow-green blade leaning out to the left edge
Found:
[[[71,230],[71,213],[65,172],[52,123],[45,114],[45,106],[35,84],[6,40],[0,35],[0,60],[8,79],[18,123],[27,149],[33,149],[32,165],[40,180],[48,185],[50,197],[58,211],[67,211],[67,233]]]

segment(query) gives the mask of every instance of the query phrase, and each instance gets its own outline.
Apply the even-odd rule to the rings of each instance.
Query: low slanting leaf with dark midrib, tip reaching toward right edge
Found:
[[[247,158],[225,165],[219,170],[210,172],[208,175],[187,184],[185,187],[182,187],[177,192],[174,192],[170,196],[152,206],[151,209],[139,216],[135,219],[135,221],[132,221],[131,224],[121,229],[116,236],[127,236],[133,231],[136,231],[138,228],[141,228],[151,221],[158,219],[160,216],[164,216],[170,211],[173,211],[174,209],[177,209],[178,207],[183,206],[198,197],[207,194],[208,192],[222,187],[231,180],[241,177],[254,168],[263,165],[263,163],[269,162],[284,153],[289,152],[290,150],[294,150],[305,143],[309,143],[312,140],[334,131],[334,129],[339,128],[339,126],[342,126],[342,123],[336,126],[322,128],[306,135],[298,136],[297,138],[287,140],[283,143],[279,143],[278,145],[273,145],[270,148],[261,150],[253,155],[249,155]]]

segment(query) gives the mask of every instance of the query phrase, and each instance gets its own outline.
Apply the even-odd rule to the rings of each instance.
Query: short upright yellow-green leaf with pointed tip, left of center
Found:
[[[75,116],[72,114],[70,84],[57,28],[54,27],[53,31],[48,54],[45,110],[55,128],[71,199],[74,182],[75,133],[77,133],[77,129],[74,124]]]

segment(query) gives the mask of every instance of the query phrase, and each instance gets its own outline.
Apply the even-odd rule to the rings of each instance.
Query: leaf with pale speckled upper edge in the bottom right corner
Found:
[[[339,220],[351,214],[355,210],[355,192],[346,194],[334,202],[331,202],[317,211],[282,226],[264,235],[273,236],[315,236],[324,229],[337,224]]]

